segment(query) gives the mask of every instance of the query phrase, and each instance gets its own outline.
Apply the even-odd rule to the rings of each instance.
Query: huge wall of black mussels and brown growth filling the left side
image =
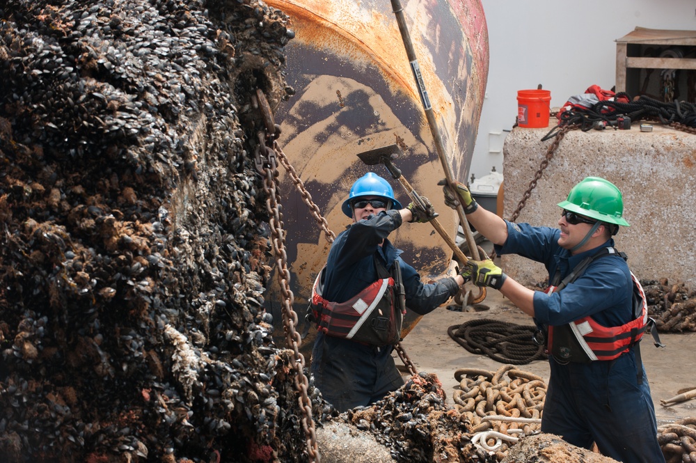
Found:
[[[251,95],[292,93],[287,17],[256,0],[0,9],[0,461],[306,460],[248,155]]]

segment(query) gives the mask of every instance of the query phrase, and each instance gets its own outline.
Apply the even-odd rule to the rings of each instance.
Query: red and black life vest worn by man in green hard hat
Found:
[[[562,289],[575,281],[594,259],[612,254],[626,259],[626,255],[619,253],[615,248],[605,248],[580,262],[558,287]],[[645,293],[633,272],[631,272],[631,280],[633,281],[633,317],[635,317],[633,320],[620,327],[605,327],[592,317],[583,317],[558,327],[549,326],[546,354],[553,355],[554,359],[561,363],[606,361],[616,359],[633,345],[638,344],[643,333],[654,322],[648,317]],[[557,291],[559,289],[551,285],[545,292],[551,294]],[[653,334],[654,337],[657,336],[656,330]],[[659,339],[656,338],[656,345],[658,344]]]

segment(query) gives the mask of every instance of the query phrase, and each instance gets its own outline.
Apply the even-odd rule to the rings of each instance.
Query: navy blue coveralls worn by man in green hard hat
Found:
[[[542,262],[549,279],[560,270],[561,278],[587,256],[614,246],[602,246],[571,256],[558,244],[560,230],[507,222],[507,241],[496,246],[498,254],[518,254]],[[560,292],[534,295],[535,322],[560,326],[592,316],[605,327],[619,327],[633,319],[633,283],[626,261],[620,256],[594,260],[585,272]],[[657,441],[655,409],[647,376],[636,365],[633,348],[612,361],[562,364],[549,358],[548,382],[541,431],[562,436],[574,446],[597,448],[624,463],[659,463],[665,457]],[[642,384],[638,384],[642,372]]]

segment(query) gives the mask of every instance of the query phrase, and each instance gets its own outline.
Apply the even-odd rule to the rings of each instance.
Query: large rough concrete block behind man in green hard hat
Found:
[[[555,141],[541,141],[548,130],[515,127],[505,139],[505,219],[512,217]],[[696,288],[696,136],[662,125],[640,132],[638,123],[631,130],[571,130],[516,222],[557,227],[557,203],[588,176],[606,178],[622,191],[624,218],[631,226],[622,227],[615,241],[628,254],[633,273]],[[524,285],[548,277],[543,265],[519,256],[503,256],[502,264]]]

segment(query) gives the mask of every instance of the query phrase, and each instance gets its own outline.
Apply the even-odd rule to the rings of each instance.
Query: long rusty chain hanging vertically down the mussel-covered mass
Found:
[[[264,118],[265,130],[258,132],[258,146],[255,151],[255,165],[263,175],[263,189],[266,194],[266,209],[269,213],[269,228],[271,229],[271,246],[276,256],[278,266],[278,282],[280,292],[283,294],[282,313],[283,331],[288,347],[293,351],[293,368],[295,375],[295,388],[299,394],[298,402],[302,410],[302,428],[307,442],[307,452],[310,462],[320,462],[319,448],[317,446],[317,434],[314,419],[312,417],[312,402],[308,395],[309,382],[304,374],[304,356],[299,350],[302,338],[295,329],[297,326],[297,314],[292,310],[294,296],[290,290],[290,271],[287,269],[287,253],[285,253],[285,230],[283,230],[283,213],[280,212],[280,192],[278,185],[278,164],[276,152],[267,145],[274,146],[274,134],[269,129],[274,129],[273,116],[270,113],[266,97],[262,91],[257,90],[258,107]]]

